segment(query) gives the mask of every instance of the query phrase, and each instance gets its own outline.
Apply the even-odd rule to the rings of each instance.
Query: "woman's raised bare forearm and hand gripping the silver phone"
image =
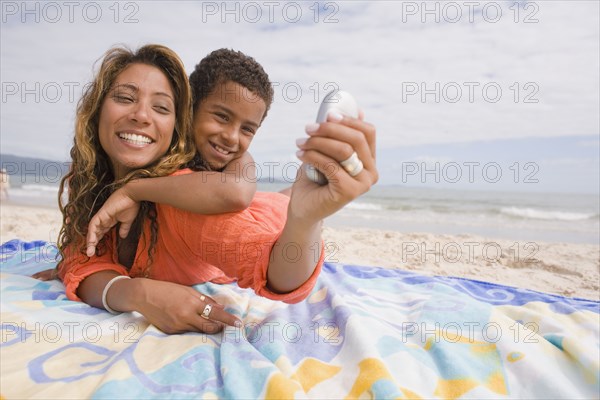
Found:
[[[310,126],[307,129],[310,137],[299,146],[298,157],[324,173],[328,183],[315,184],[306,177],[303,167],[299,169],[292,186],[287,221],[273,246],[267,270],[268,288],[274,292],[293,291],[310,278],[321,256],[323,218],[367,192],[379,179],[375,165],[375,128],[353,118],[339,120],[330,116],[328,121]],[[339,164],[353,151],[364,166],[354,177]],[[302,250],[299,258],[290,258],[285,251],[289,244]]]

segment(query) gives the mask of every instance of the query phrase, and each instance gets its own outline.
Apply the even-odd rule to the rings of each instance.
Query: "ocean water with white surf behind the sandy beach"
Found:
[[[259,182],[259,190],[287,184]],[[11,180],[14,204],[57,207],[58,183]],[[376,185],[326,225],[399,232],[474,234],[519,241],[600,243],[600,197]]]

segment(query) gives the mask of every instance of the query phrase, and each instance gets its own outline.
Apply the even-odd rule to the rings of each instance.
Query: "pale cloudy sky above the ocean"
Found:
[[[599,4],[2,1],[0,152],[68,160],[111,46],[164,44],[188,72],[226,47],[274,84],[259,174],[293,171],[295,140],[341,88],[377,128],[380,184],[598,193]]]

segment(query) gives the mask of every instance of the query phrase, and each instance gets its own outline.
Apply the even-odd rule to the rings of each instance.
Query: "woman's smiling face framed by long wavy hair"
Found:
[[[163,156],[174,129],[175,96],[165,74],[146,64],[125,68],[104,99],[98,127],[115,178]]]

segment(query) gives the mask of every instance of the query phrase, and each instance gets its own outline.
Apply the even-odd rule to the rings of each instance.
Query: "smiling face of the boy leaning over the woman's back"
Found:
[[[194,113],[196,149],[212,169],[224,168],[248,150],[266,110],[264,100],[240,84],[217,85]]]

